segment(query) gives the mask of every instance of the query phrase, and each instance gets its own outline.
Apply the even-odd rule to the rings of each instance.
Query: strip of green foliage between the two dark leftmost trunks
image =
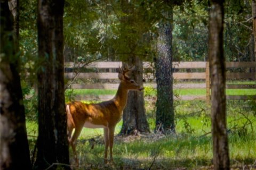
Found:
[[[37,2],[20,1],[19,46],[21,59],[21,87],[27,120],[37,120],[37,96],[35,95],[36,72],[39,67],[37,60]]]

